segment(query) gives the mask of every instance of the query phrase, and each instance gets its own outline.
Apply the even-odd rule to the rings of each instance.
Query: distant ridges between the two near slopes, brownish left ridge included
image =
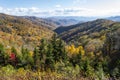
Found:
[[[47,17],[47,18],[39,18],[35,16],[20,16],[20,17],[30,20],[35,25],[38,26],[41,25],[51,30],[54,30],[61,26],[66,27],[96,19],[94,17],[79,17],[79,16],[68,16],[68,17],[55,16],[55,17]]]

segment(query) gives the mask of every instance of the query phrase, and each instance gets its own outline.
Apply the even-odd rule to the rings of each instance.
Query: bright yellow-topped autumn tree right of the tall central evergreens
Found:
[[[70,57],[70,62],[73,66],[79,65],[82,67],[82,59],[85,55],[85,50],[82,46],[75,47],[73,44],[66,47],[68,55]]]

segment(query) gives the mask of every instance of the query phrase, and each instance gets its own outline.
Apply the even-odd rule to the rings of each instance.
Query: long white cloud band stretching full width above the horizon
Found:
[[[51,10],[41,10],[37,7],[31,8],[3,8],[0,7],[0,13],[6,13],[17,16],[38,16],[38,17],[49,17],[49,16],[115,16],[119,15],[119,10],[112,9],[88,9],[88,8],[55,8]]]

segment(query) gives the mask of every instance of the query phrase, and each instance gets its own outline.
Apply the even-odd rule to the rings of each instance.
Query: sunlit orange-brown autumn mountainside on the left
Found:
[[[0,14],[0,43],[6,46],[32,48],[42,38],[51,38],[53,33],[43,23],[38,25],[22,17]]]

